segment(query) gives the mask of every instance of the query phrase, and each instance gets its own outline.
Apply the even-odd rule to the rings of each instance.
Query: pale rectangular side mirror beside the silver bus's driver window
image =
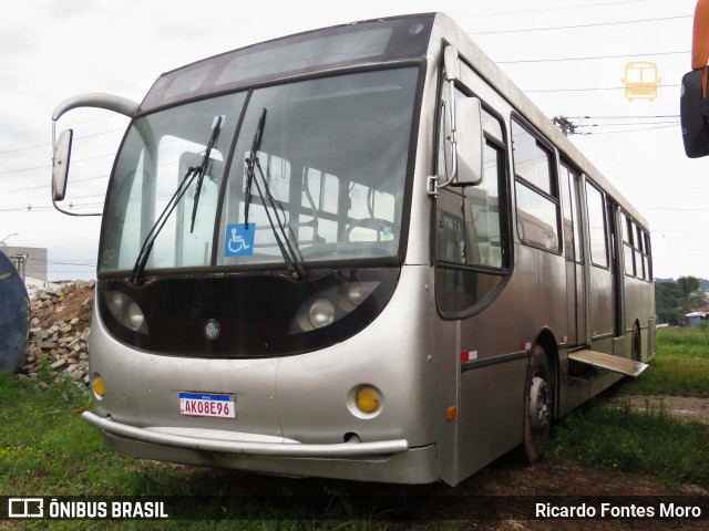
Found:
[[[451,186],[477,186],[483,180],[483,119],[476,97],[455,101],[458,173]]]

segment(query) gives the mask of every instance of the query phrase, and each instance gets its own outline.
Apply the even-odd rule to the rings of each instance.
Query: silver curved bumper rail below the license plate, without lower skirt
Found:
[[[152,445],[184,448],[197,451],[216,451],[245,456],[289,457],[289,458],[357,458],[388,456],[409,450],[407,439],[381,440],[376,442],[340,442],[332,445],[304,445],[295,440],[271,437],[273,441],[239,440],[240,434],[219,430],[192,430],[187,428],[136,428],[112,418],[102,418],[84,412],[82,418],[114,435]],[[208,435],[208,437],[207,437]],[[249,434],[242,434],[249,438]],[[253,439],[254,436],[250,436]]]

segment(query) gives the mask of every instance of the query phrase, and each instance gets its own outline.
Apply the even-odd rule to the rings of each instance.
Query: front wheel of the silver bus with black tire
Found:
[[[552,433],[554,412],[553,379],[544,347],[532,347],[524,404],[523,451],[533,464],[542,458]]]

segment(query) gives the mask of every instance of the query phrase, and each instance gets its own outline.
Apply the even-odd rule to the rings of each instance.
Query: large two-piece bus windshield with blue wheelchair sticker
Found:
[[[146,241],[146,271],[285,269],[279,239],[306,269],[398,257],[418,72],[321,77],[136,118],[109,187],[101,271],[133,269]]]

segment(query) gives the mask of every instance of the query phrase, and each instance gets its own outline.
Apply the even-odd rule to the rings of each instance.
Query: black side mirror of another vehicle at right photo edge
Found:
[[[685,153],[689,158],[709,155],[709,98],[702,90],[705,75],[707,67],[693,70],[682,77],[679,114]]]

